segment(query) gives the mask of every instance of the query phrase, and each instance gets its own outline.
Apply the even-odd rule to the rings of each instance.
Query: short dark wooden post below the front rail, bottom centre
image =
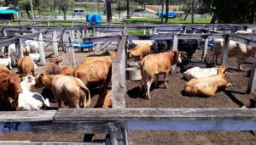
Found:
[[[125,122],[109,122],[108,133],[111,145],[128,145]]]

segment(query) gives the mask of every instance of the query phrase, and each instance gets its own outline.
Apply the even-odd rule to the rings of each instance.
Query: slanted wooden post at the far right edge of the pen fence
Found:
[[[255,74],[255,70],[256,70],[256,53],[254,54],[254,59],[253,59],[253,68],[251,71],[251,75],[250,75],[250,80],[247,86],[247,93],[253,93],[256,92],[256,74]]]

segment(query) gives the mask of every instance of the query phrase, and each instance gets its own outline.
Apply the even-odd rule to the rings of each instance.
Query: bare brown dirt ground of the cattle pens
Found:
[[[48,59],[53,51],[50,48],[45,51]],[[67,53],[59,51],[60,58],[64,59],[61,66],[69,65]],[[90,53],[75,53],[75,59],[79,64],[86,55]],[[49,61],[47,59],[47,61]],[[201,50],[197,51],[193,56],[193,61],[198,62],[201,59]],[[160,77],[160,87],[155,88],[152,85],[151,100],[144,99],[139,91],[139,81],[127,81],[127,94],[125,95],[125,102],[127,108],[239,108],[239,106],[247,103],[249,98],[254,98],[253,95],[246,93],[248,77],[246,70],[252,67],[253,58],[247,59],[246,63],[242,64],[245,71],[236,71],[236,59],[229,59],[228,66],[230,70],[227,74],[227,81],[232,83],[223,92],[216,93],[210,98],[187,97],[182,95],[185,80],[183,75],[177,72],[168,76],[168,89],[163,88],[163,79]],[[44,70],[45,66],[39,66],[36,73]],[[42,89],[34,90],[41,92]],[[93,107],[98,98],[96,91],[92,92]],[[56,103],[51,103],[51,106],[56,107]],[[64,105],[64,108],[67,106]],[[103,139],[103,136],[95,137]],[[249,131],[129,131],[130,144],[256,144],[253,132]],[[32,132],[3,132],[1,140],[31,140],[31,141],[70,141],[81,142],[83,135],[77,134],[32,134]]]

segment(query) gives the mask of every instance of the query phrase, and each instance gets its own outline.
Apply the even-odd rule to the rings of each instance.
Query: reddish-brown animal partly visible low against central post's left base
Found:
[[[101,95],[99,95],[99,98],[94,108],[111,109],[112,108],[112,92],[105,91]]]

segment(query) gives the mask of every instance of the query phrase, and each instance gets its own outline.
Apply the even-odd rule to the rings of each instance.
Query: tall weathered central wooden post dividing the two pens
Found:
[[[125,77],[125,43],[126,36],[122,36],[119,49],[112,64],[112,108],[125,108],[126,77]]]

